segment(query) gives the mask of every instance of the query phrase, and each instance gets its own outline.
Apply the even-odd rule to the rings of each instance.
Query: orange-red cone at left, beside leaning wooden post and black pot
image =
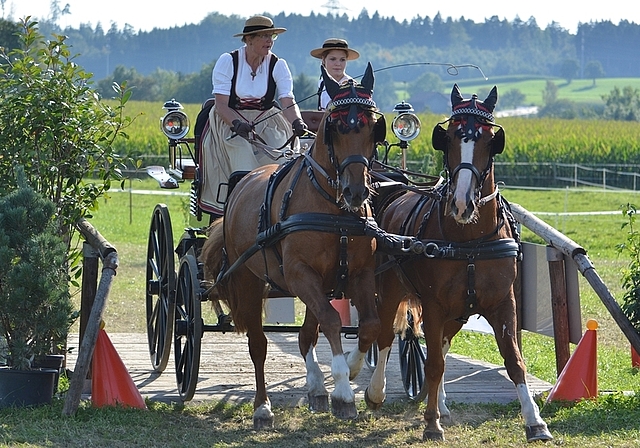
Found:
[[[104,331],[104,322],[98,331],[93,352],[91,401],[94,407],[128,406],[146,409],[131,375],[118,355],[111,339]]]

